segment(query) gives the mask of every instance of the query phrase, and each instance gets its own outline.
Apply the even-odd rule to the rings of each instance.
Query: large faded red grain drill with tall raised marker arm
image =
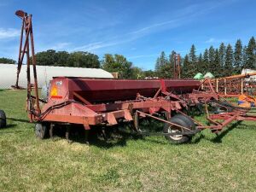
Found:
[[[148,134],[140,130],[141,119],[155,119],[165,123],[161,133],[173,143],[188,142],[197,132],[210,129],[218,133],[224,126],[234,120],[253,120],[247,115],[247,109],[236,108],[228,102],[221,101],[211,81],[206,79],[201,90],[201,82],[192,79],[85,79],[79,77],[56,77],[49,83],[49,95],[46,100],[39,99],[36,58],[32,35],[32,15],[17,11],[22,19],[20,54],[18,61],[17,83],[26,54],[27,67],[27,112],[29,119],[36,122],[36,135],[39,138],[53,137],[57,126],[66,129],[69,139],[71,125],[84,127],[85,140],[91,128],[96,127],[104,133],[109,126],[121,122],[131,122],[133,131]],[[23,42],[23,32],[25,41]],[[23,44],[24,43],[24,44]],[[32,72],[30,49],[32,50]],[[35,96],[32,96],[34,90]],[[217,108],[217,113],[209,114],[208,105]],[[186,110],[202,109],[205,106],[209,125],[191,118]],[[218,121],[216,119],[222,119]]]

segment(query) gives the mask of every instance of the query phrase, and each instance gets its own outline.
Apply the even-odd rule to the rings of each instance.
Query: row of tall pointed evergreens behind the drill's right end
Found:
[[[161,78],[172,78],[173,56],[172,51],[166,56],[162,51],[155,63],[155,73]],[[236,41],[235,47],[221,43],[218,48],[210,46],[203,53],[196,55],[195,45],[192,44],[189,54],[182,59],[182,77],[193,78],[196,73],[212,73],[215,77],[225,77],[241,73],[243,68],[256,69],[256,43],[250,38],[247,45]]]

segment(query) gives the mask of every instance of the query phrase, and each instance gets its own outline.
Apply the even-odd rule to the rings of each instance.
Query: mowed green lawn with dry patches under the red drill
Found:
[[[164,137],[108,143],[38,140],[26,91],[1,90],[8,127],[0,130],[0,191],[256,191],[256,124],[173,145]],[[199,118],[201,119],[201,118]]]

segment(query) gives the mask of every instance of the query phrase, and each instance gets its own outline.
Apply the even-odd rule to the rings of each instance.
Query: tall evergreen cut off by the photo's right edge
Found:
[[[254,69],[256,68],[256,43],[255,38],[252,37],[247,46],[247,61],[246,61],[246,68]]]

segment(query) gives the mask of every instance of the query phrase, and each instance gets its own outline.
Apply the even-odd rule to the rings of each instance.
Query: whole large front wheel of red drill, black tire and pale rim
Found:
[[[182,115],[182,116],[185,117],[184,115]],[[186,122],[187,119],[185,119],[183,117],[181,117],[181,115],[177,114],[170,119],[170,122],[172,122],[173,124],[182,125],[183,127],[186,127],[189,129],[189,123],[188,123],[189,121]],[[185,131],[188,131],[188,130],[184,130],[183,128],[174,126],[174,125],[166,124],[164,126],[164,133],[185,132]],[[169,140],[171,143],[181,144],[181,143],[188,143],[191,140],[191,137],[177,135],[177,136],[166,136],[166,139]]]

